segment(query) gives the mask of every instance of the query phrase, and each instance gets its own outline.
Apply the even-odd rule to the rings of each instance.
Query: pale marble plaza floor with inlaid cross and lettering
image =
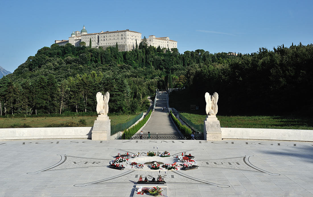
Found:
[[[0,150],[0,196],[136,196],[140,175],[159,174],[169,197],[313,196],[313,143],[57,139],[0,141]],[[165,150],[191,153],[198,169],[107,167],[118,152]]]

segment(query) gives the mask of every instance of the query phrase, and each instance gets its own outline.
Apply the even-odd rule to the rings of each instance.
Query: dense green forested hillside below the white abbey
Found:
[[[13,74],[0,79],[2,115],[95,111],[97,91],[110,92],[110,112],[134,113],[148,106],[155,89],[186,88],[175,107],[204,109],[206,91],[219,94],[220,114],[312,112],[313,45],[260,48],[252,54],[210,54],[198,49],[147,47],[118,52],[74,47],[39,49]]]

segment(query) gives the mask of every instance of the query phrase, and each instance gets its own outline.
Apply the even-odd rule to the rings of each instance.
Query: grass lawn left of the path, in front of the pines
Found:
[[[139,113],[138,113],[139,114]],[[134,115],[114,115],[109,114],[111,125],[116,125],[118,123],[127,122],[138,114]],[[86,120],[85,127],[94,126],[94,121],[97,119],[96,116],[83,116],[83,117],[46,117],[46,118],[0,118],[0,128],[10,128],[13,124],[23,125],[24,123],[31,127],[45,127],[46,125],[52,123],[61,123],[61,122],[78,122],[80,119]]]

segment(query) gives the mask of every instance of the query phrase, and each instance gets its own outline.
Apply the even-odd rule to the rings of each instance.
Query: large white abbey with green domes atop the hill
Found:
[[[138,46],[142,41],[141,33],[130,31],[129,29],[121,31],[101,31],[99,33],[88,34],[84,25],[80,32],[73,31],[68,40],[55,40],[54,43],[60,46],[70,43],[77,47],[80,46],[81,42],[85,42],[86,46],[89,47],[90,39],[91,47],[99,48],[99,46],[101,46],[105,49],[108,46],[115,46],[117,43],[119,51],[129,51],[131,49],[135,49],[136,41]],[[177,48],[177,41],[170,40],[168,37],[156,38],[152,35],[147,39],[147,44],[148,46],[154,46],[156,48],[159,45],[161,48]]]

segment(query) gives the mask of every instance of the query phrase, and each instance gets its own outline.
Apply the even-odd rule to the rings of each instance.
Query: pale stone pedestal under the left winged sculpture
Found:
[[[91,140],[109,140],[111,138],[111,120],[107,115],[101,114],[95,120],[91,132]]]

